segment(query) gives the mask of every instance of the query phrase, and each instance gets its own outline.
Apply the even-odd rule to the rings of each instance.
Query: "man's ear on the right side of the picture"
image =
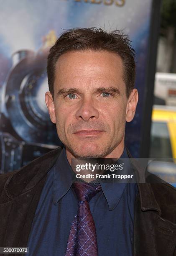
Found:
[[[137,104],[138,104],[138,90],[133,89],[127,101],[127,108],[126,108],[127,122],[131,122],[133,120]]]

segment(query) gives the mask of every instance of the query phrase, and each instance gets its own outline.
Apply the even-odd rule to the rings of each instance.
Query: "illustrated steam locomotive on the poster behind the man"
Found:
[[[12,55],[0,90],[0,173],[19,169],[62,144],[44,99],[48,49],[46,45],[37,53],[21,50]]]

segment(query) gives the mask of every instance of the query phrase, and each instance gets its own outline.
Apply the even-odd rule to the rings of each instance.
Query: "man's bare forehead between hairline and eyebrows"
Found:
[[[109,51],[71,51],[59,57],[55,67],[55,82],[61,87],[67,82],[123,82],[122,59]],[[59,87],[60,87],[59,86]]]

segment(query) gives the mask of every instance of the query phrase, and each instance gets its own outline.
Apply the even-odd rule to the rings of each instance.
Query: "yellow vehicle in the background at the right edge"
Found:
[[[148,170],[176,187],[176,107],[154,105]]]

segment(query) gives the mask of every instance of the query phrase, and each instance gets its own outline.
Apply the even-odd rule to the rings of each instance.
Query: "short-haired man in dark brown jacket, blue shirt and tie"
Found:
[[[154,176],[152,184],[73,182],[73,159],[130,157],[125,122],[138,91],[128,38],[66,31],[50,50],[47,73],[46,104],[65,146],[0,177],[0,246],[28,246],[30,255],[176,255],[171,185]]]

